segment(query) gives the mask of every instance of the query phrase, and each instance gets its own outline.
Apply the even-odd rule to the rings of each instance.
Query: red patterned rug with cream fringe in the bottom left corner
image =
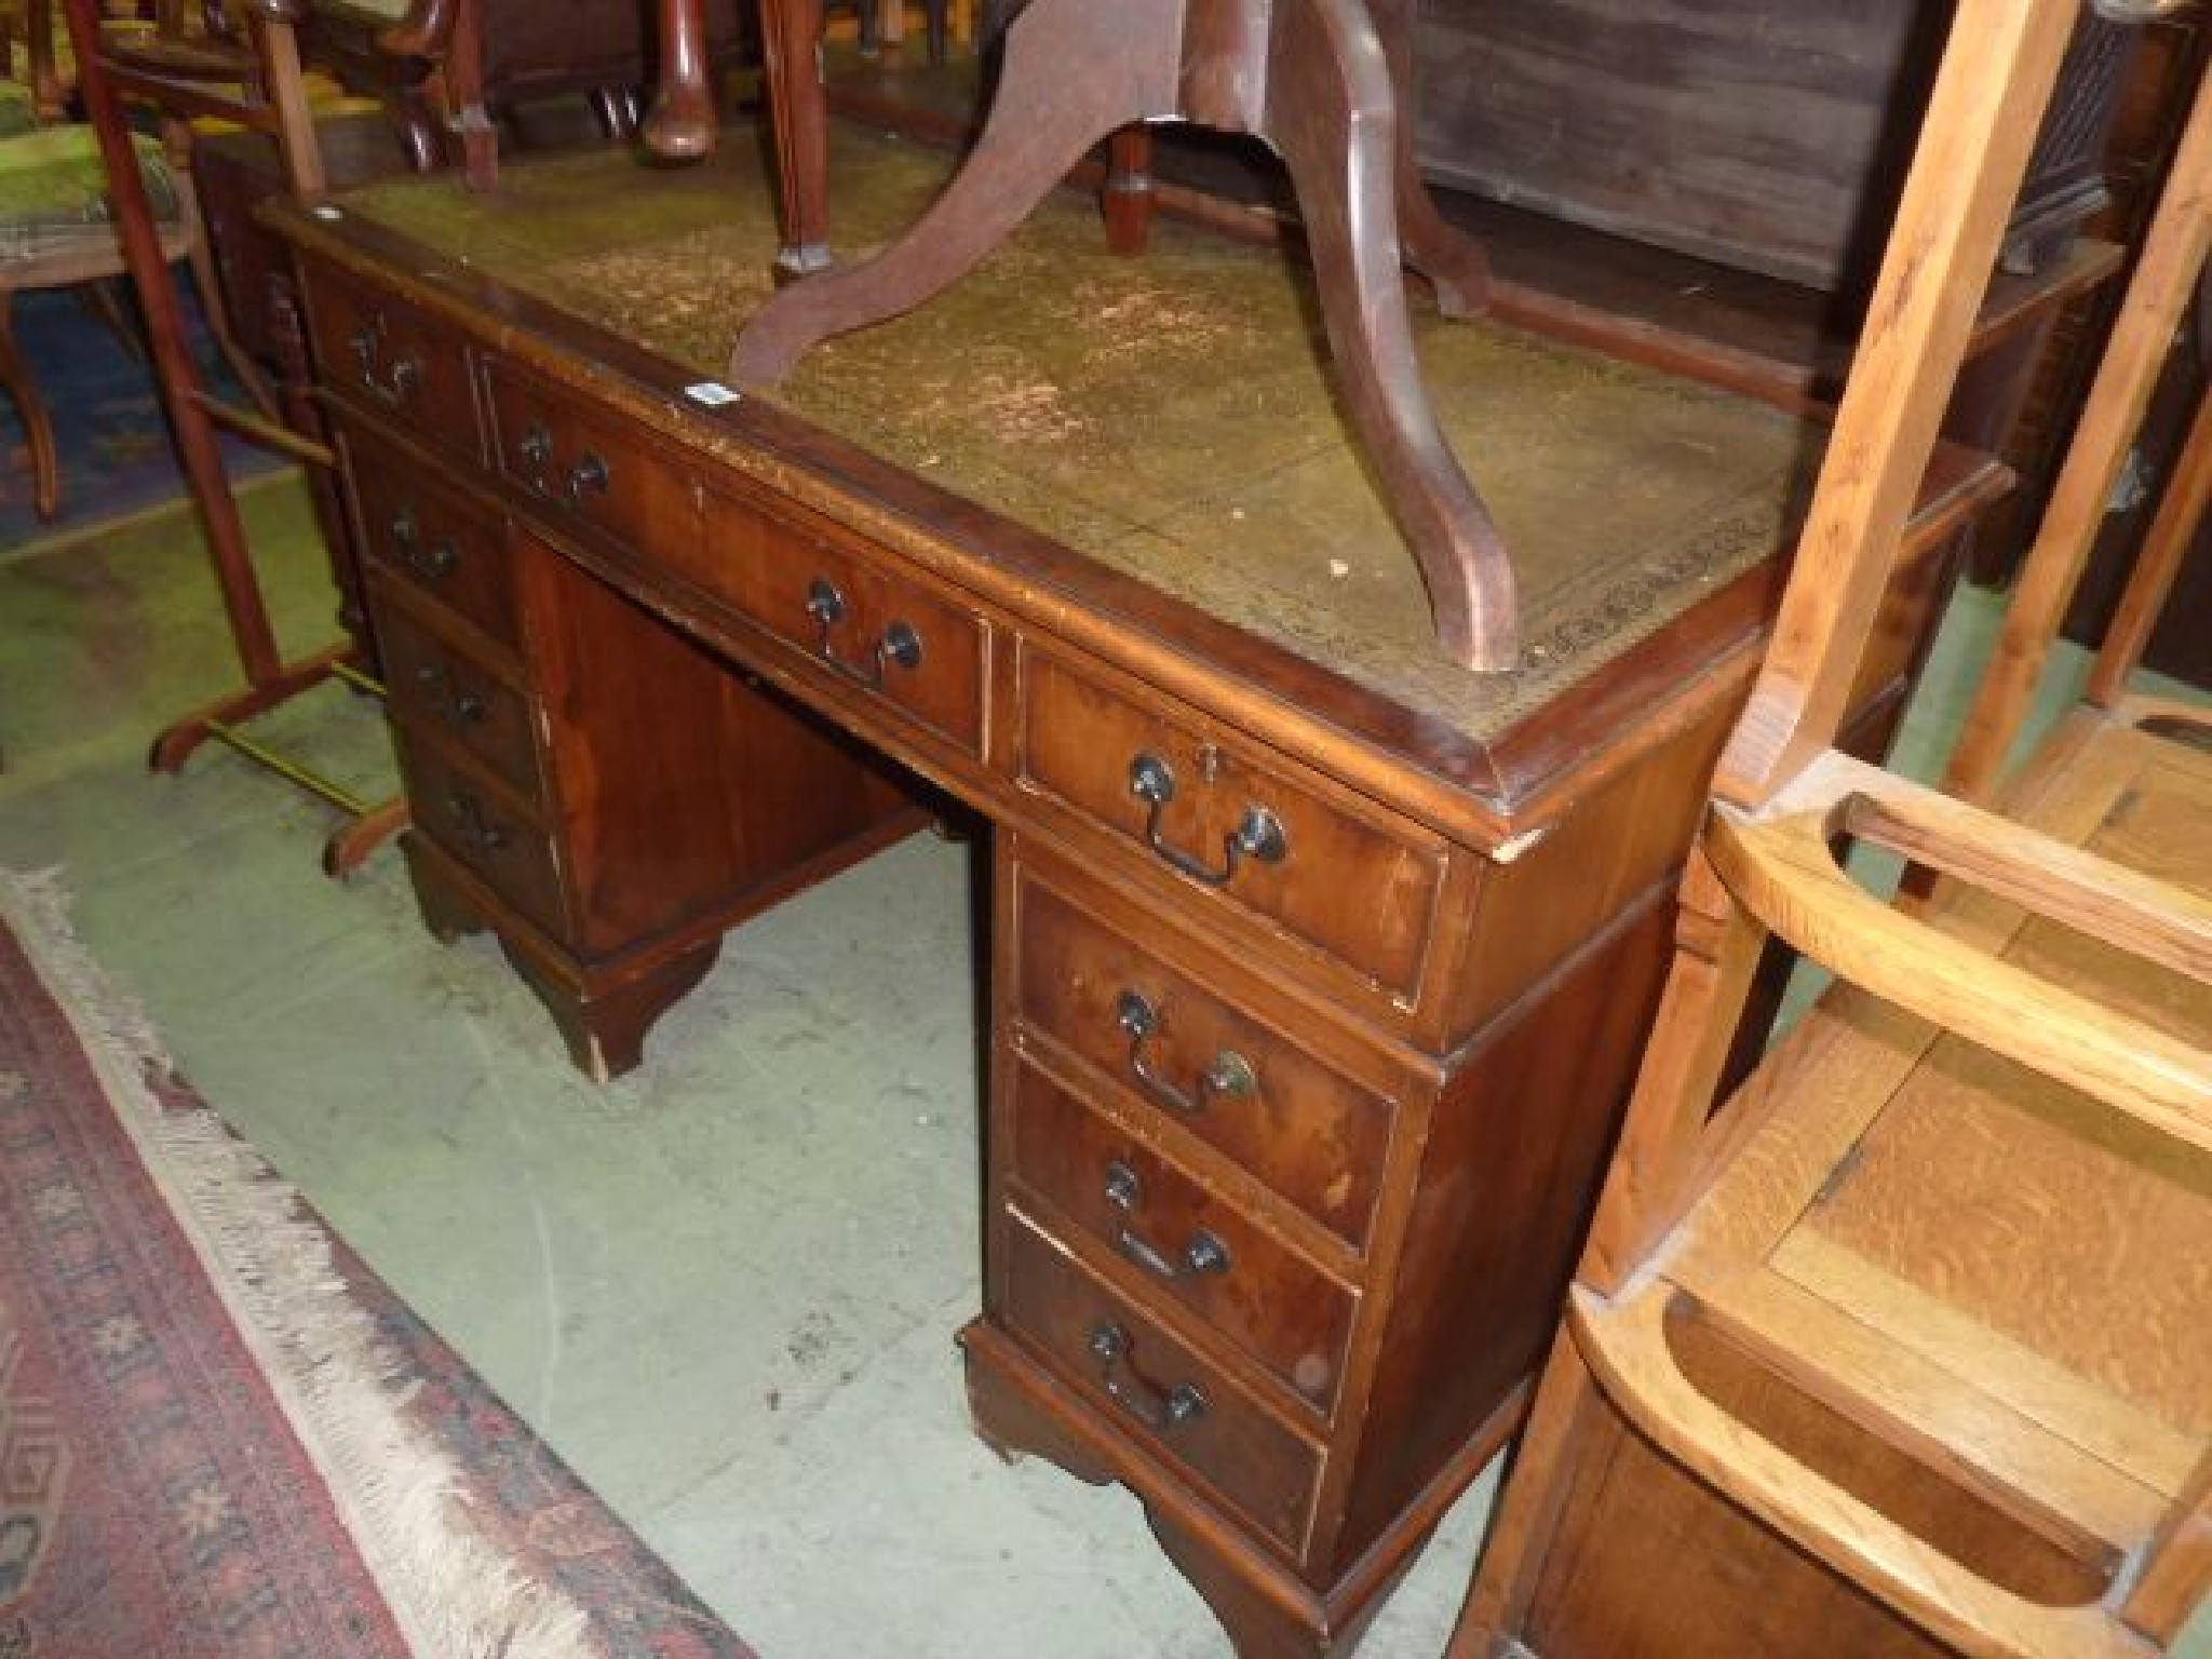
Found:
[[[0,872],[0,1659],[750,1659]]]

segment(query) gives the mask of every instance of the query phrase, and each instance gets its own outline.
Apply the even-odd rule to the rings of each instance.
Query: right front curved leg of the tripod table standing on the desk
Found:
[[[1383,498],[1420,562],[1444,653],[1513,668],[1513,566],[1422,389],[1398,279],[1398,131],[1365,0],[1279,0],[1267,142],[1298,192],[1329,352]]]

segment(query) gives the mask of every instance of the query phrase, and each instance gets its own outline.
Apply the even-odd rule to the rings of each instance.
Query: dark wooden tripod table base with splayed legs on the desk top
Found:
[[[818,13],[818,2],[763,7],[770,33],[790,29],[796,11]],[[1378,15],[1396,44],[1385,44]],[[1298,192],[1347,405],[1420,562],[1438,644],[1467,668],[1513,668],[1513,571],[1429,411],[1398,281],[1405,204],[1413,257],[1444,310],[1464,314],[1484,292],[1480,252],[1436,217],[1400,133],[1389,64],[1409,64],[1409,0],[1385,0],[1380,13],[1367,0],[1279,0],[1263,22],[1234,0],[1126,0],[1110,9],[1035,0],[1006,29],[998,100],[945,195],[874,259],[827,270],[763,305],[737,341],[730,378],[772,385],[818,341],[942,292],[1102,135],[1128,122],[1186,117],[1256,133],[1283,155]],[[790,51],[790,35],[770,40],[770,62],[781,58],[785,77]],[[779,113],[779,131],[790,131],[787,190],[807,184],[810,135],[783,115],[810,104],[818,113],[818,84],[810,93],[787,88],[790,108]],[[818,170],[812,179],[818,186]],[[794,223],[814,223],[803,195],[785,204]],[[792,226],[785,232],[790,252]]]

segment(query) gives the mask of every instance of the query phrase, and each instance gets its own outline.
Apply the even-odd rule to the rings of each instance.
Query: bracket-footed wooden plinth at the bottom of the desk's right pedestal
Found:
[[[1281,1557],[1252,1544],[1186,1480],[1102,1418],[989,1318],[960,1332],[969,1416],[975,1433],[1013,1462],[1048,1458],[1093,1486],[1119,1482],[1144,1504],[1161,1551],[1206,1597],[1239,1659],[1340,1659],[1429,1542],[1444,1506],[1480,1473],[1520,1420],[1520,1394],[1453,1460],[1433,1502],[1416,1504],[1367,1555],[1327,1588],[1314,1588]],[[1429,1495],[1425,1495],[1429,1498]]]

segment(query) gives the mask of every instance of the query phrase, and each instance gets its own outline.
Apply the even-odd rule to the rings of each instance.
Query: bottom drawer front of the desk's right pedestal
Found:
[[[1221,1374],[1095,1281],[1026,1217],[1004,1217],[1006,1307],[1106,1418],[1243,1511],[1292,1557],[1305,1546],[1321,1449],[1230,1389]]]

